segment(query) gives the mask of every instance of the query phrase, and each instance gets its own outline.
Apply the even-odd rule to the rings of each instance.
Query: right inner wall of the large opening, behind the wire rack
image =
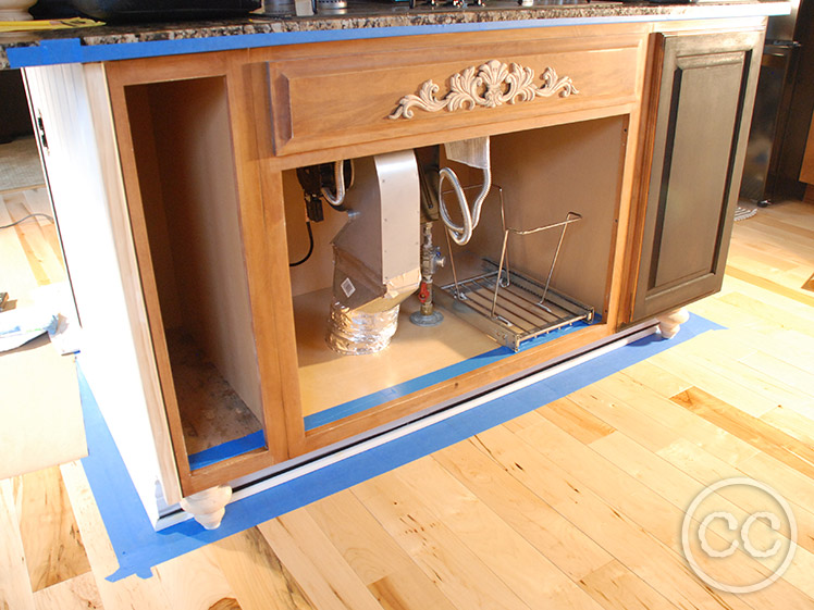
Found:
[[[506,224],[528,231],[582,216],[569,225],[552,287],[602,313],[617,224],[625,127],[621,116],[506,134],[492,138],[493,180],[504,189]],[[499,258],[499,208],[484,209],[483,229],[471,250]],[[560,229],[510,235],[508,254],[517,271],[545,283]]]

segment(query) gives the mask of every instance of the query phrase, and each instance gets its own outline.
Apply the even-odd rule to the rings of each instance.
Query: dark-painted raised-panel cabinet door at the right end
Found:
[[[633,321],[720,288],[763,34],[661,36],[659,42]]]

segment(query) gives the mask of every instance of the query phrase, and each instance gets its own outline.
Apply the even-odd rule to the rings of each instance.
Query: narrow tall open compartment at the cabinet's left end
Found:
[[[209,77],[125,91],[150,332],[168,418],[195,470],[218,461],[223,444],[266,445],[226,84]]]

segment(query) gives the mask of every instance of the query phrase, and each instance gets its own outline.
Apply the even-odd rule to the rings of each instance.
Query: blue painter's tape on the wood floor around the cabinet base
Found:
[[[88,457],[82,463],[119,560],[119,570],[108,580],[118,581],[132,574],[149,577],[153,565],[448,447],[702,333],[721,328],[718,324],[692,315],[670,340],[651,335],[385,445],[232,502],[221,526],[212,531],[203,530],[192,520],[161,532],[152,528],[87,382],[79,372],[88,440]]]

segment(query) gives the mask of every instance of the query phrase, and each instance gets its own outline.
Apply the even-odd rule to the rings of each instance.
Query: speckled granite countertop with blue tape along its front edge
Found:
[[[412,10],[404,2],[350,0],[350,8],[342,12],[294,16],[293,4],[285,2],[281,0],[274,4],[276,12],[219,21],[3,33],[0,34],[0,70],[371,36],[789,13],[786,0],[713,0],[680,4],[534,0],[533,7],[519,7],[514,0],[486,0],[488,5],[483,8],[439,5]],[[381,28],[390,29],[371,33]]]

